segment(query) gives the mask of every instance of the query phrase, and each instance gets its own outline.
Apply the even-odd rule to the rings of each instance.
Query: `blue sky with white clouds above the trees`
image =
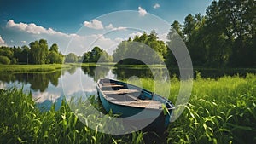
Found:
[[[0,0],[0,45],[22,46],[44,38],[49,45],[58,43],[62,53],[74,52],[82,55],[84,51],[91,49],[92,43],[98,38],[94,45],[112,53],[121,40],[140,34],[141,31],[159,30],[159,37],[165,40],[164,35],[173,20],[183,22],[188,14],[205,14],[211,2]],[[123,10],[126,11],[113,13]],[[125,14],[128,16],[125,17]],[[162,22],[166,23],[160,24]]]

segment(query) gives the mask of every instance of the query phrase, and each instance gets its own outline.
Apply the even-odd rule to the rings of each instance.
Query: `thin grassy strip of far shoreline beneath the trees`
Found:
[[[114,63],[65,63],[65,64],[44,64],[44,65],[0,65],[0,72],[55,72],[61,69],[69,69],[73,66],[112,66],[115,68],[125,68],[125,69],[145,69],[145,68],[166,68],[165,65],[115,65]],[[172,68],[168,68],[170,70],[179,70],[177,66],[173,66]],[[248,71],[248,72],[256,72],[256,67],[193,67],[194,71]]]

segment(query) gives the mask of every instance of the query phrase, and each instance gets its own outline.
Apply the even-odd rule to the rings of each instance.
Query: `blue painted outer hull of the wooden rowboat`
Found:
[[[119,82],[119,84],[124,84],[124,83]],[[130,86],[133,86],[133,85],[130,85]],[[104,96],[104,93],[102,92],[102,89],[100,88],[99,84],[97,84],[96,89],[104,109],[107,112],[112,111],[113,114],[118,114],[119,117],[124,118],[125,122],[127,122],[128,124],[135,124],[135,123],[140,124],[140,123],[147,122],[148,126],[145,127],[144,129],[163,131],[163,130],[166,130],[166,127],[170,123],[170,118],[172,116],[172,109],[174,107],[169,108],[168,109],[169,114],[166,114],[163,112],[162,109],[128,107],[124,105],[119,105],[119,104],[113,103],[112,101],[108,101],[106,99],[106,96]],[[146,94],[146,92],[148,92],[148,90],[145,90],[144,93]],[[154,95],[153,97],[155,101],[160,101],[160,102],[167,101],[165,98],[161,97],[160,95]],[[134,117],[137,115],[138,117]]]

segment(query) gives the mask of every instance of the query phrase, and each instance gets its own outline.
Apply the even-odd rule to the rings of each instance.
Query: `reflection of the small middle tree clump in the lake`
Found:
[[[99,78],[105,78],[111,69],[108,66],[83,66],[81,68],[84,74],[88,74],[94,81],[97,81]]]

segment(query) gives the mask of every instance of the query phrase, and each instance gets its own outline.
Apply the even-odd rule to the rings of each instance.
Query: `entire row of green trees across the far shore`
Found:
[[[186,44],[194,66],[202,67],[250,67],[256,66],[256,3],[254,0],[213,1],[207,14],[188,14],[183,24],[173,21],[167,42],[159,40],[153,30],[143,32],[119,43],[113,55],[95,47],[82,56],[73,53],[67,56],[58,51],[57,44],[48,49],[46,40],[41,39],[21,48],[1,47],[0,63],[48,64],[65,62],[119,62],[120,64],[159,64],[177,66],[172,51],[173,37],[178,34]],[[145,49],[154,49],[155,53]],[[178,48],[174,48],[178,49]],[[142,60],[129,59],[140,57]],[[128,59],[127,59],[128,57]]]

